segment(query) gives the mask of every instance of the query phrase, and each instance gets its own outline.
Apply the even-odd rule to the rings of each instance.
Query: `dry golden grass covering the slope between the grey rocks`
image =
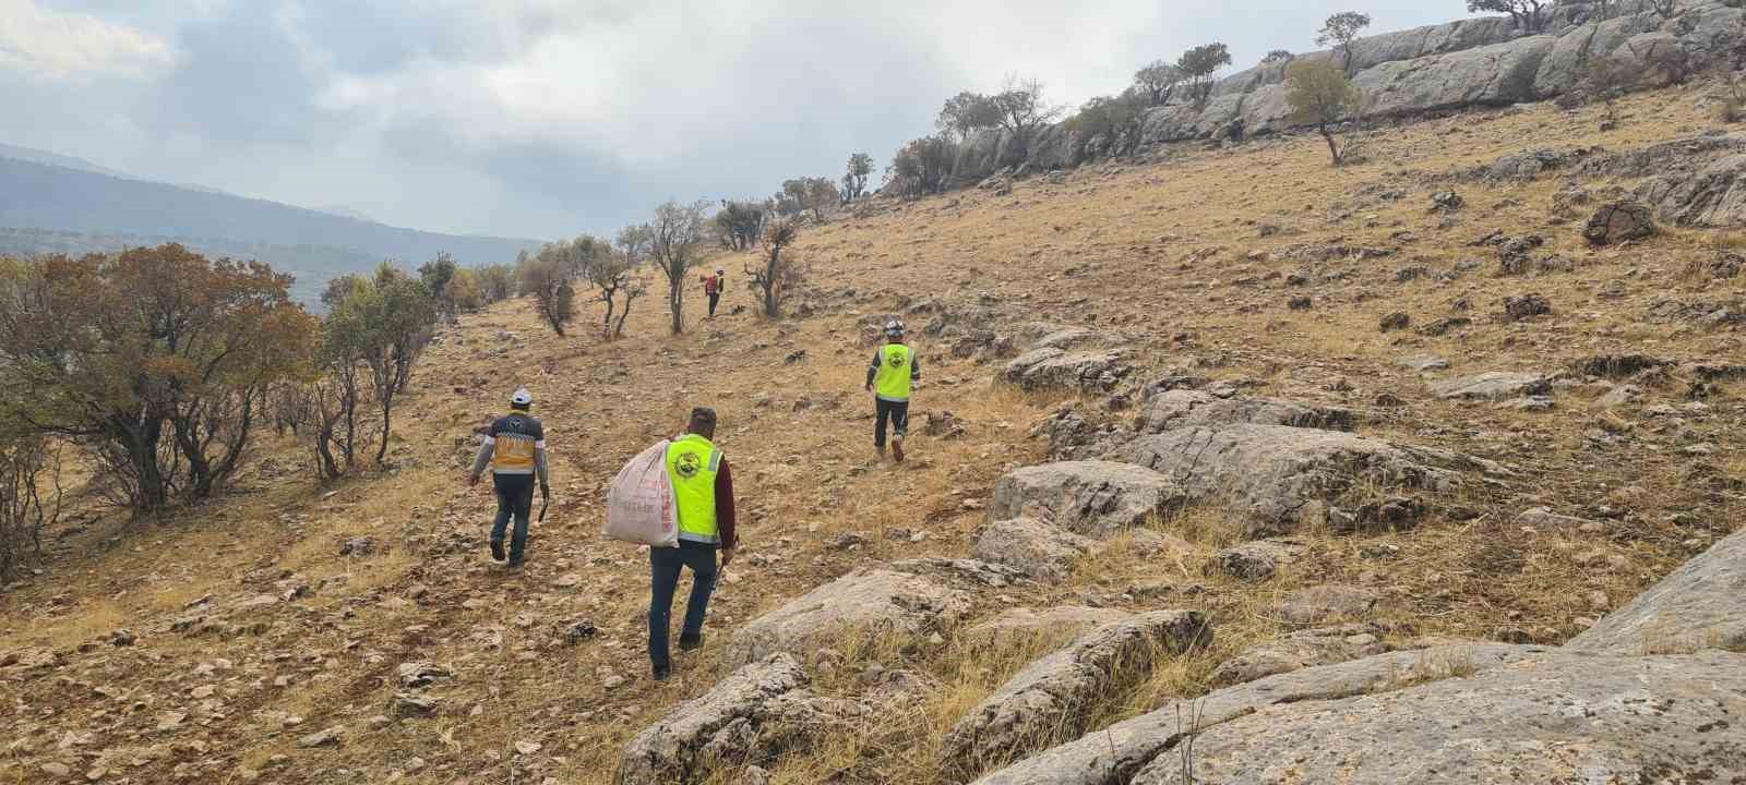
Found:
[[[646,298],[627,338],[601,342],[550,337],[520,302],[468,314],[417,370],[416,391],[396,415],[393,471],[316,487],[306,452],[272,441],[262,452],[283,471],[244,478],[246,492],[164,523],[105,515],[86,534],[54,543],[45,577],[0,595],[0,652],[49,647],[70,658],[77,679],[138,682],[141,700],[150,698],[150,708],[134,713],[124,712],[127,703],[61,689],[52,677],[3,682],[28,710],[0,719],[0,733],[23,740],[0,757],[0,782],[35,782],[33,766],[56,755],[89,762],[56,743],[68,729],[100,726],[87,720],[96,712],[107,712],[96,747],[204,745],[201,755],[129,768],[136,782],[171,782],[178,764],[196,766],[194,782],[239,782],[244,769],[267,769],[272,755],[292,764],[267,769],[262,782],[286,785],[386,782],[395,771],[410,783],[611,782],[632,734],[726,672],[719,647],[740,623],[859,567],[966,555],[995,480],[1042,459],[1048,445],[1028,434],[1067,398],[995,386],[999,363],[953,359],[943,342],[918,337],[927,386],[911,413],[913,459],[903,468],[873,461],[871,405],[861,392],[871,347],[859,342],[857,321],[901,309],[903,297],[971,304],[988,295],[1007,323],[1055,321],[1119,335],[1112,342],[1133,349],[1140,380],[1186,368],[1245,382],[1255,394],[1344,405],[1362,415],[1367,436],[1475,454],[1514,473],[1449,494],[1414,494],[1433,508],[1416,529],[1296,532],[1308,553],[1262,584],[1201,574],[1215,550],[1241,539],[1236,518],[1208,504],[1152,523],[1187,541],[1180,553],[1145,555],[1131,537],[1116,537],[1063,584],[983,597],[978,618],[1007,605],[1096,604],[1184,607],[1213,621],[1208,647],[1161,658],[1144,679],[1123,680],[1086,706],[1091,727],[1217,687],[1219,663],[1287,630],[1275,604],[1320,583],[1379,591],[1374,621],[1395,645],[1419,637],[1564,640],[1605,612],[1598,605],[1627,602],[1732,529],[1746,487],[1746,452],[1729,438],[1737,433],[1743,382],[1718,386],[1706,399],[1709,415],[1674,424],[1638,408],[1591,410],[1598,392],[1587,389],[1561,391],[1559,406],[1543,413],[1439,401],[1395,359],[1439,354],[1454,366],[1449,373],[1474,373],[1557,372],[1619,351],[1732,358],[1737,333],[1653,323],[1646,311],[1666,297],[1737,293],[1734,283],[1688,279],[1685,270],[1720,249],[1746,248],[1746,236],[1669,230],[1641,246],[1589,249],[1573,225],[1549,222],[1561,176],[1495,188],[1447,176],[1529,147],[1528,140],[1619,150],[1697,133],[1708,120],[1694,94],[1626,99],[1624,126],[1605,134],[1594,110],[1538,105],[1379,131],[1365,140],[1369,160],[1343,169],[1325,166],[1318,140],[1285,138],[1173,150],[1159,164],[1090,166],[1062,185],[1020,183],[1009,197],[967,190],[890,204],[808,229],[800,253],[814,260],[815,283],[857,295],[819,295],[821,316],[782,324],[753,316],[702,323],[693,302],[690,333],[672,338],[658,298]],[[1447,225],[1426,211],[1428,194],[1444,188],[1468,201]],[[1381,199],[1385,190],[1404,197]],[[1282,232],[1262,237],[1264,223]],[[1468,246],[1491,230],[1545,236],[1540,253],[1570,258],[1573,272],[1498,276],[1495,251]],[[1292,249],[1329,244],[1397,251],[1316,263]],[[1463,260],[1481,267],[1447,283],[1395,281],[1402,267],[1442,272]],[[735,269],[732,260],[728,267]],[[1283,276],[1301,269],[1348,277],[1310,288],[1315,309],[1290,312],[1285,300],[1304,291],[1287,288]],[[1601,297],[1612,281],[1624,283],[1622,297]],[[1554,314],[1502,323],[1502,298],[1523,291],[1543,293]],[[744,291],[728,290],[728,309],[746,302]],[[1458,311],[1460,302],[1468,311]],[[1474,324],[1442,337],[1381,333],[1378,317],[1392,311],[1411,314],[1414,328],[1446,316]],[[491,356],[498,347],[512,349],[513,366]],[[800,351],[805,359],[789,363]],[[1652,401],[1687,403],[1687,380],[1646,382]],[[555,499],[534,529],[529,569],[505,574],[482,555],[491,492],[464,488],[461,471],[471,426],[501,413],[501,399],[524,384],[552,434]],[[1379,405],[1381,394],[1399,405]],[[681,658],[674,680],[653,684],[643,651],[648,565],[636,550],[599,539],[599,502],[618,466],[677,431],[698,403],[721,413],[718,441],[735,469],[746,544],[712,604],[709,645]],[[1096,401],[1083,406],[1096,408]],[[925,436],[931,412],[952,412],[967,433]],[[1594,447],[1591,431],[1627,440]],[[1687,431],[1718,452],[1681,455]],[[1362,485],[1351,497],[1393,492]],[[1603,530],[1516,523],[1516,513],[1542,504],[1594,516]],[[1446,515],[1453,508],[1475,516],[1456,520]],[[845,532],[868,543],[840,550],[835,543]],[[349,537],[372,537],[382,553],[339,558]],[[1596,562],[1596,553],[1612,562]],[[244,581],[255,570],[271,577]],[[559,586],[569,574],[580,583]],[[313,593],[250,619],[265,623],[265,631],[168,630],[196,598],[213,595],[223,605],[299,584]],[[414,584],[428,595],[407,598]],[[683,597],[681,586],[679,605]],[[597,637],[564,642],[562,628],[583,619]],[[77,652],[120,626],[141,633],[140,644]],[[1067,637],[976,647],[957,635],[945,645],[849,635],[836,645],[835,670],[815,673],[815,689],[859,696],[856,677],[871,661],[915,670],[941,689],[765,766],[782,783],[953,782],[938,766],[946,729]],[[225,719],[201,726],[190,715],[182,731],[155,733],[157,712],[199,708],[187,698],[197,684],[190,673],[217,658],[236,663],[232,675],[210,679],[239,687],[223,701]],[[416,659],[456,672],[430,689],[442,700],[436,717],[372,727],[370,717],[389,713],[395,668]],[[1460,675],[1461,663],[1425,668]],[[627,682],[606,689],[608,677]],[[304,722],[257,720],[272,712]],[[344,745],[297,748],[300,734],[333,724],[349,729]],[[515,741],[538,741],[541,750],[522,755]],[[414,757],[426,766],[409,773]],[[711,782],[737,776],[728,768]]]

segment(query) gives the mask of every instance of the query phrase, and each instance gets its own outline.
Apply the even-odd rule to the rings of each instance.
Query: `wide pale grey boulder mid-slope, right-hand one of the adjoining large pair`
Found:
[[[1184,427],[1144,436],[1110,455],[1175,481],[1189,502],[1222,504],[1248,537],[1327,522],[1355,485],[1449,490],[1482,464],[1442,450],[1287,426]]]

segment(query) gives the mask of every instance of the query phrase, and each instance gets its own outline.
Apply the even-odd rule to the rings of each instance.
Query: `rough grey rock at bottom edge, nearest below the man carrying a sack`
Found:
[[[798,734],[854,713],[847,701],[805,687],[807,672],[791,654],[735,670],[632,738],[620,785],[700,780],[712,768],[761,759]]]

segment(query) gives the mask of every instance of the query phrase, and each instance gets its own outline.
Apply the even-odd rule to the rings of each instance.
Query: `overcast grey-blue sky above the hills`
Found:
[[[665,199],[880,169],[941,101],[1079,103],[1208,40],[1236,66],[1460,0],[0,0],[0,141],[463,234],[609,232]]]

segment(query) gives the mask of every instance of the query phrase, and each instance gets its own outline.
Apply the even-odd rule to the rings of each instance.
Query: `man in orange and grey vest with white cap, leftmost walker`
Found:
[[[503,562],[503,532],[510,518],[515,518],[515,534],[510,537],[510,569],[522,565],[527,553],[527,518],[534,506],[534,476],[540,478],[540,494],[550,502],[552,483],[546,476],[545,427],[527,412],[534,405],[534,394],[527,389],[510,396],[510,413],[499,417],[485,431],[484,443],[478,445],[478,457],[473,459],[473,471],[468,485],[478,485],[478,476],[491,464],[491,480],[498,487],[498,520],[491,525],[491,558]]]

